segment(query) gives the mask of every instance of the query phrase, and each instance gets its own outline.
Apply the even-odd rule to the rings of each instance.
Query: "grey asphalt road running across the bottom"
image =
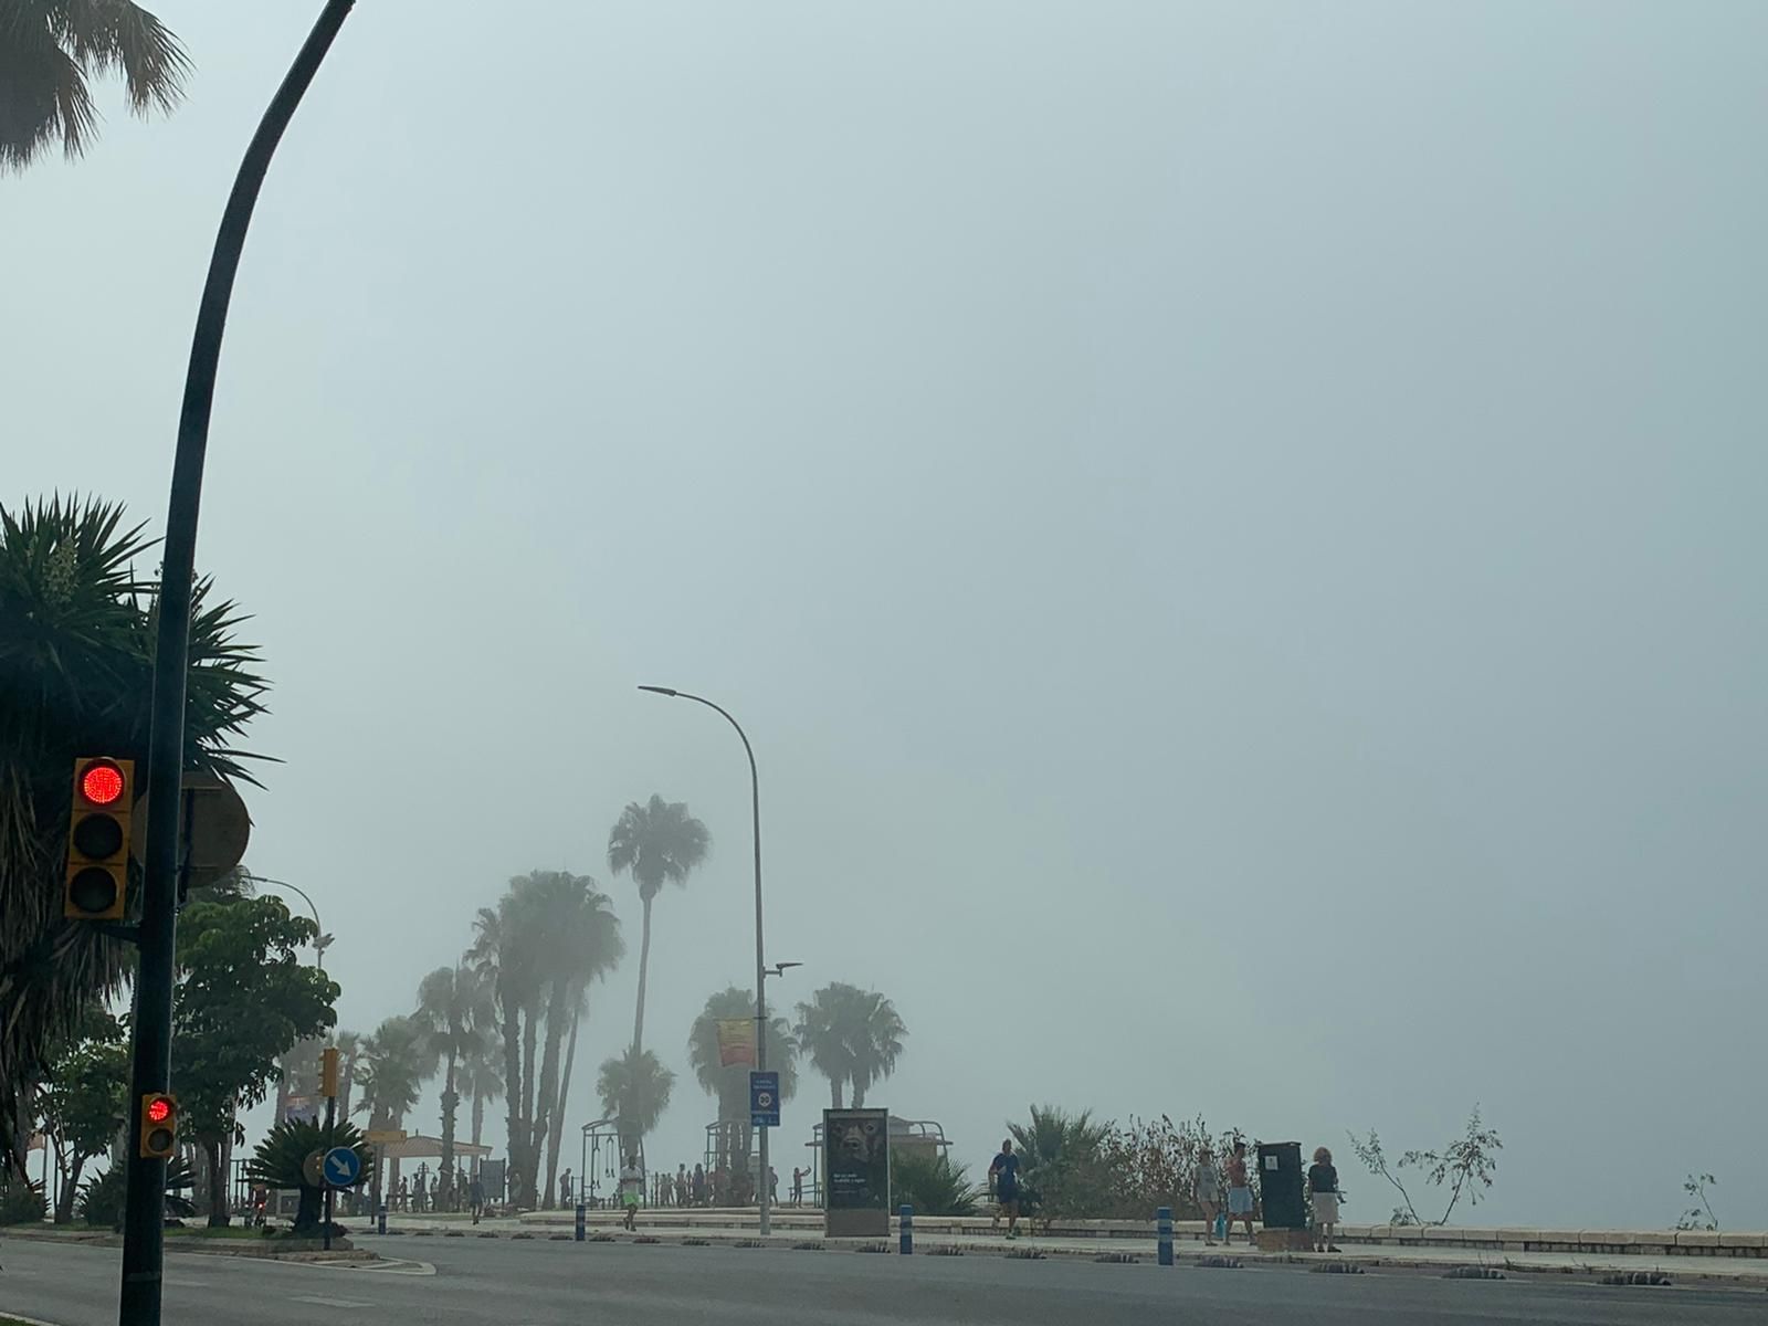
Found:
[[[362,1243],[389,1257],[423,1257],[435,1269],[173,1255],[164,1319],[177,1326],[1761,1326],[1768,1319],[1761,1289],[1609,1289],[1558,1276],[1476,1282],[545,1239]],[[115,1326],[118,1257],[111,1248],[7,1239],[0,1315]]]

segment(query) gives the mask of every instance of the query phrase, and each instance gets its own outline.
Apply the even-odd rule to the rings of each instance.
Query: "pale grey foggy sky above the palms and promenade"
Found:
[[[4,500],[164,516],[239,154],[316,4],[0,180]],[[647,1041],[877,987],[875,1093],[1506,1149],[1476,1222],[1768,1227],[1768,9],[359,5],[239,281],[198,559],[276,682],[249,861],[345,1025],[682,799]],[[789,1174],[826,1086],[787,1107]],[[435,1132],[431,1089],[408,1121]],[[265,1117],[260,1110],[255,1124]],[[502,1114],[492,1112],[502,1146]],[[463,1121],[465,1130],[465,1121]],[[571,1162],[575,1167],[575,1151]]]

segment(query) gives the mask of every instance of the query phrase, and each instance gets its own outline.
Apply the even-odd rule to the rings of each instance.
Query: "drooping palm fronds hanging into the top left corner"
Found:
[[[189,58],[127,0],[12,0],[0,25],[0,170],[23,170],[55,138],[78,157],[97,131],[88,80],[120,72],[136,115],[184,97]]]

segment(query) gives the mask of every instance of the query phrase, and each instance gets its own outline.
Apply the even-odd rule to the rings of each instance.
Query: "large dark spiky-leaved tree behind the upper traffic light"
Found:
[[[156,585],[134,573],[152,546],[141,529],[78,497],[0,507],[0,1156],[18,1174],[46,1055],[133,962],[124,941],[64,919],[62,865],[74,758],[145,767]],[[184,753],[193,769],[251,781],[251,757],[230,743],[262,713],[265,682],[235,638],[242,621],[198,582]]]

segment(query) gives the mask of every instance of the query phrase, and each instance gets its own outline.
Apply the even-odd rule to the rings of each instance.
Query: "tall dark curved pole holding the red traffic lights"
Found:
[[[141,960],[136,974],[133,1096],[171,1086],[171,979],[177,941],[179,803],[184,781],[184,684],[191,654],[191,592],[196,566],[196,516],[202,507],[203,456],[214,407],[221,336],[226,331],[233,278],[246,249],[246,228],[258,202],[276,145],[306,95],[320,62],[350,14],[354,0],[327,0],[301,46],[288,76],[271,99],[246,149],[228,196],[209,279],[191,332],[191,361],[179,412],[179,446],[171,463],[166,541],[161,548],[159,615],[154,640],[154,698],[147,744],[147,852],[141,889]],[[124,1200],[122,1326],[159,1326],[164,1266],[166,1160],[141,1155],[141,1112],[129,1109],[127,1197]]]

